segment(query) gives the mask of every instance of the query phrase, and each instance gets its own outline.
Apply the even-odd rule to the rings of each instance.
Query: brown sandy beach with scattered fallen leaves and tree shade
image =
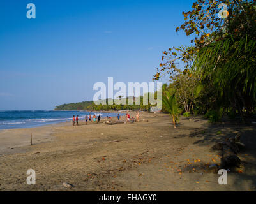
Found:
[[[238,154],[245,171],[220,185],[220,175],[206,171],[220,163],[220,152],[209,149],[236,133],[246,145]],[[8,129],[0,131],[0,191],[255,191],[255,133],[255,126],[202,117],[181,118],[174,129],[163,113],[140,113],[140,122],[128,124]],[[27,184],[28,169],[36,185]]]

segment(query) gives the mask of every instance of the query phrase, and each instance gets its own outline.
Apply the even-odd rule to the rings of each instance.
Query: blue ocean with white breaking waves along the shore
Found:
[[[45,126],[48,124],[66,122],[66,120],[71,120],[73,115],[79,115],[79,119],[84,119],[86,114],[93,115],[94,112],[69,110],[0,110],[0,129],[32,128]],[[102,115],[102,117],[117,116],[117,113],[95,112],[96,116],[99,114]]]

